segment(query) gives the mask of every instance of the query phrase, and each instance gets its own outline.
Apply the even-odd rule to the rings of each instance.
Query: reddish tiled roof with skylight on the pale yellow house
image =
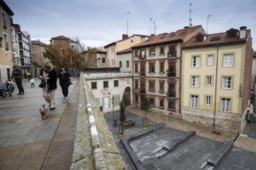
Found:
[[[239,36],[236,38],[228,38],[227,32],[217,33],[217,34],[208,34],[207,38],[203,42],[196,42],[195,36],[189,39],[184,45],[183,48],[189,47],[206,47],[213,45],[228,45],[246,42],[247,37],[250,34],[250,30],[246,30],[246,36],[244,39],[240,39]],[[213,40],[216,39],[216,40]]]

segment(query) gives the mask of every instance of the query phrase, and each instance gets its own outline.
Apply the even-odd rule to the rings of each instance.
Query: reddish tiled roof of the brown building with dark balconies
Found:
[[[188,33],[192,33],[193,31],[197,30],[201,26],[192,26],[188,27]],[[171,32],[171,33],[162,33],[156,36],[151,36],[151,39],[146,40],[145,42],[140,42],[138,45],[132,46],[132,48],[136,47],[146,47],[150,45],[157,45],[166,42],[176,42],[182,41],[187,34],[185,34],[185,28],[179,29],[178,31]]]

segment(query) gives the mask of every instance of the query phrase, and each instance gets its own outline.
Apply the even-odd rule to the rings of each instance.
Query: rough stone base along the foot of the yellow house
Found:
[[[192,107],[181,107],[181,117],[183,120],[213,127],[214,112],[206,109],[197,109]],[[241,117],[235,113],[216,112],[216,129],[219,131],[230,131],[236,134],[240,133]]]

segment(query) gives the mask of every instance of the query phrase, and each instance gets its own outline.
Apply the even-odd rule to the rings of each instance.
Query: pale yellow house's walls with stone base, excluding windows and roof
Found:
[[[246,43],[182,50],[181,117],[184,120],[214,125],[222,131],[241,131],[241,117],[249,100],[247,78],[244,76],[246,60],[249,60],[246,53]],[[224,67],[225,54],[233,55],[233,66]],[[208,66],[208,55],[214,56],[212,66]],[[192,67],[193,56],[200,57],[197,68]],[[192,76],[199,77],[197,88],[192,87]],[[206,85],[207,76],[212,77],[211,85]],[[231,77],[230,89],[222,87],[223,77]],[[192,96],[198,96],[197,107],[192,107]],[[211,104],[206,104],[206,96],[211,97]],[[228,111],[222,110],[222,98],[230,98]]]

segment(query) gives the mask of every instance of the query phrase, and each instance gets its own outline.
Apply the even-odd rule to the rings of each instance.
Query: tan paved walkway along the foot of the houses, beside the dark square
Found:
[[[142,112],[139,107],[130,106],[127,108],[127,111],[134,113],[143,117],[145,112]],[[184,120],[178,119],[176,117],[170,117],[167,115],[159,114],[157,112],[148,112],[148,118],[157,123],[165,123],[170,128],[176,128],[181,131],[196,131],[197,135],[206,137],[208,139],[214,139],[219,142],[233,141],[236,139],[237,134],[232,134],[229,132],[221,132],[221,134],[213,134],[212,128],[207,128],[201,125],[196,125],[193,123],[185,122]]]

